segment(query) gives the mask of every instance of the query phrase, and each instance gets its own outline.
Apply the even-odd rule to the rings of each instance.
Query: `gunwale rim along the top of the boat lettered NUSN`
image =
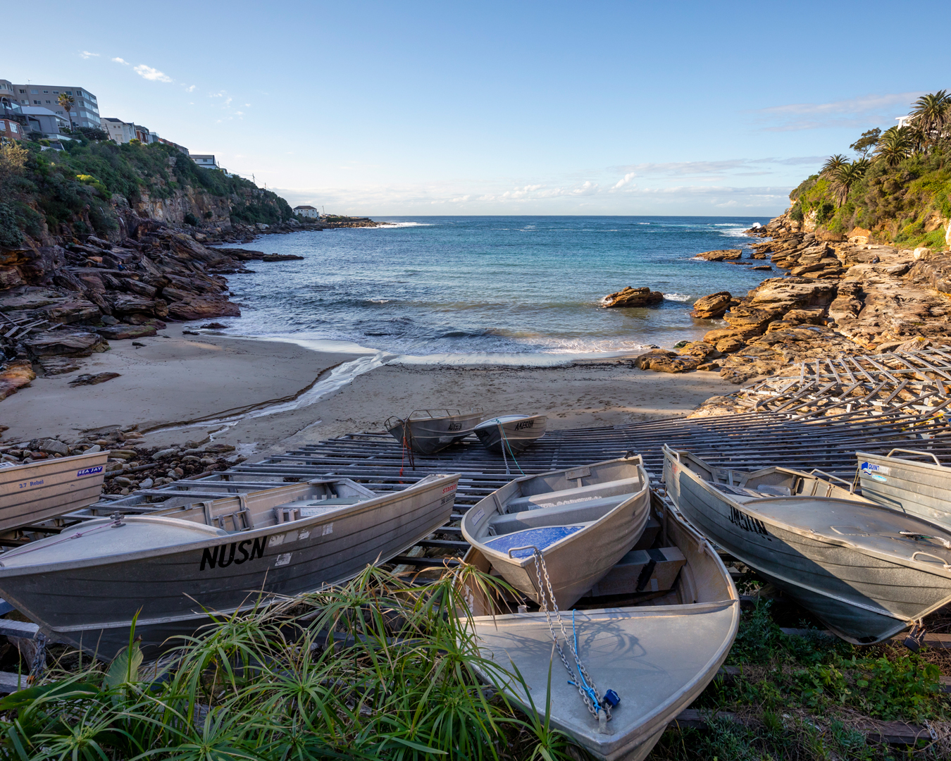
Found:
[[[19,550],[29,549],[30,544],[27,544],[24,547],[20,547],[20,548],[17,548],[16,550],[11,551],[10,553],[7,553],[5,555],[0,555],[0,579],[7,578],[10,576],[24,576],[24,575],[31,575],[31,574],[37,574],[37,573],[46,574],[46,573],[52,573],[52,572],[69,571],[76,568],[94,568],[94,567],[98,567],[102,565],[111,565],[112,563],[115,563],[115,562],[126,562],[127,560],[130,560],[130,559],[138,560],[138,559],[145,559],[150,557],[164,557],[167,555],[175,555],[182,552],[203,550],[205,547],[212,547],[212,546],[221,544],[223,540],[227,539],[228,537],[236,537],[234,540],[242,541],[243,539],[238,539],[237,537],[243,537],[244,539],[260,538],[260,537],[270,536],[271,534],[281,534],[281,532],[287,532],[291,530],[296,531],[298,529],[308,528],[312,526],[319,526],[322,522],[334,522],[335,520],[339,520],[340,517],[354,517],[359,515],[359,513],[363,513],[368,510],[376,510],[380,507],[387,505],[388,503],[392,501],[402,498],[408,493],[418,492],[420,494],[424,494],[427,491],[430,491],[430,489],[433,489],[439,485],[445,484],[446,479],[455,478],[456,484],[458,484],[459,474],[454,473],[454,474],[431,474],[431,475],[435,476],[437,479],[428,481],[426,483],[423,483],[422,481],[417,481],[417,483],[414,483],[408,486],[406,489],[403,489],[398,492],[390,492],[389,494],[379,495],[377,498],[364,499],[363,501],[357,502],[352,505],[342,505],[340,508],[340,511],[324,513],[323,515],[320,515],[320,516],[305,517],[305,518],[301,518],[300,520],[288,521],[286,523],[275,523],[274,525],[271,525],[271,526],[262,526],[260,529],[237,531],[237,532],[229,533],[226,535],[217,535],[215,537],[199,539],[197,541],[182,542],[180,544],[172,544],[166,547],[157,547],[153,550],[147,551],[146,553],[144,553],[142,550],[133,550],[133,551],[129,551],[122,554],[96,556],[96,557],[90,557],[90,558],[78,559],[78,560],[62,560],[58,562],[44,563],[42,566],[39,566],[39,567],[36,564],[28,564],[23,566],[14,566],[14,567],[7,567],[3,565],[3,559],[5,555],[7,557],[15,557],[14,553],[18,552]],[[342,480],[342,479],[335,479],[335,480]],[[287,484],[287,485],[301,486],[303,484]],[[277,488],[281,488],[281,487],[277,487]],[[250,497],[252,494],[262,494],[269,491],[273,491],[273,490],[262,489],[260,492],[247,494],[246,497]],[[456,497],[456,489],[453,490],[453,497],[454,498]],[[230,499],[230,498],[225,497],[224,499]],[[138,517],[140,516],[126,516],[125,519],[129,520],[129,519],[138,518]],[[163,517],[166,520],[175,521],[177,523],[188,524],[189,528],[191,528],[193,525],[204,525],[207,528],[213,528],[213,527],[208,527],[207,524],[199,524],[196,521],[185,520],[184,518],[167,517],[167,516],[145,516],[145,517]],[[107,522],[109,519],[110,518],[103,518],[103,521]],[[91,523],[93,521],[88,521],[88,522]],[[101,523],[100,525],[105,525],[105,522]],[[139,521],[136,520],[135,522],[138,523]],[[83,524],[83,525],[87,525],[87,524]],[[432,534],[432,531],[430,531],[429,534]]]

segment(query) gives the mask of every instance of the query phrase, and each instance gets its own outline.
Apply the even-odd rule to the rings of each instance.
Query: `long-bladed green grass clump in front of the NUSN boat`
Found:
[[[420,589],[368,568],[352,582],[216,621],[144,666],[51,673],[0,700],[10,759],[567,758],[564,737],[481,684],[459,582]],[[509,675],[512,676],[511,674]]]

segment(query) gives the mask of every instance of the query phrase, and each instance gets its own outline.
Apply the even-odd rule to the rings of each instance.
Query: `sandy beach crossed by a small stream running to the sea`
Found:
[[[417,408],[544,413],[557,429],[687,415],[708,397],[735,390],[716,373],[652,373],[617,361],[400,363],[381,353],[319,352],[282,341],[184,335],[184,329],[169,325],[139,347],[113,341],[79,372],[37,378],[3,402],[5,438],[73,439],[90,429],[138,425],[150,445],[203,439],[210,431],[216,441],[243,444],[248,456],[264,456],[381,430],[389,416]],[[80,373],[107,372],[120,377],[69,385]]]

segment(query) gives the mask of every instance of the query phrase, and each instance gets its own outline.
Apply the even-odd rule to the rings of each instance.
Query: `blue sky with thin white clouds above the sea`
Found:
[[[0,78],[328,212],[773,215],[951,88],[947,2],[141,5],[11,4]]]

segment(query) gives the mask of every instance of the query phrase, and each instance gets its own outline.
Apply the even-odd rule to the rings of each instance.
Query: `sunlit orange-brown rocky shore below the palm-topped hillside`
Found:
[[[869,244],[860,229],[846,240],[787,215],[747,232],[768,237],[752,244],[754,256],[769,255],[786,277],[742,298],[721,291],[698,300],[693,317],[722,317],[727,327],[683,346],[679,357],[642,355],[638,367],[719,366],[721,377],[743,383],[800,361],[951,343],[951,252]]]

